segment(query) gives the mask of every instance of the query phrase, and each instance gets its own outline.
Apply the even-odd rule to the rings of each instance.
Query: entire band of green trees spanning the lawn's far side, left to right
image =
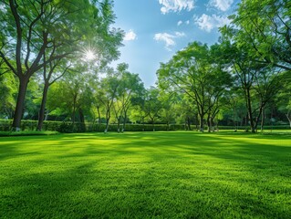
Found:
[[[21,120],[196,124],[213,131],[218,120],[246,125],[288,120],[291,127],[291,5],[243,0],[212,46],[192,42],[157,71],[145,89],[118,59],[123,31],[112,28],[113,3],[2,1],[0,116]],[[84,60],[85,53],[97,57]]]

